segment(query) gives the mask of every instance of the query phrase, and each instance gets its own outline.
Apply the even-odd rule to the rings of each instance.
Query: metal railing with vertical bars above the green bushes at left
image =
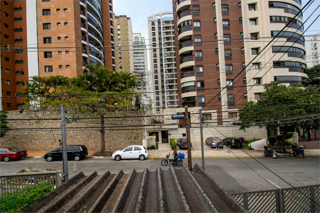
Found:
[[[54,187],[61,185],[60,171],[4,174],[0,177],[1,196],[5,192],[14,192],[26,186],[35,186],[40,182],[49,182]]]

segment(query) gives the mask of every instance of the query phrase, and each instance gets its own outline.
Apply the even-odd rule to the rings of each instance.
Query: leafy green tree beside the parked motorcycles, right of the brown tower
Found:
[[[319,93],[316,88],[301,84],[287,87],[271,82],[265,84],[264,89],[260,100],[245,102],[244,108],[239,110],[241,130],[265,126],[274,133],[279,150],[284,152],[288,126],[294,126],[299,134],[301,130],[319,128]],[[284,126],[281,140],[276,137],[279,126]]]

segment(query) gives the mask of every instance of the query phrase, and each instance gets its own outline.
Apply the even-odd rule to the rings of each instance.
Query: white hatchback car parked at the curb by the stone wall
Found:
[[[148,157],[148,155],[148,151],[144,146],[131,145],[125,149],[115,151],[112,154],[112,159],[119,161],[121,159],[138,158],[143,161],[146,157]]]

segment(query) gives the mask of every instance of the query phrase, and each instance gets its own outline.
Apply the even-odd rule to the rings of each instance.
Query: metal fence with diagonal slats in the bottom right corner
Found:
[[[319,185],[231,193],[231,196],[249,212],[320,212]]]

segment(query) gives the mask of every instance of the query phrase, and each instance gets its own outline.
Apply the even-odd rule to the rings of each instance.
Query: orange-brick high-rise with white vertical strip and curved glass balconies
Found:
[[[76,77],[89,63],[114,70],[112,0],[1,0],[0,4],[4,110],[24,106],[23,97],[3,97],[15,96],[30,76]],[[8,45],[9,51],[2,52]]]

